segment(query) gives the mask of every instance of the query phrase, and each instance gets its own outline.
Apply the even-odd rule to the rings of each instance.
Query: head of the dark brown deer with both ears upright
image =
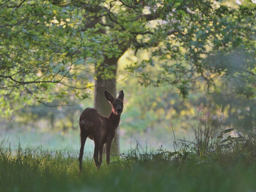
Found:
[[[110,102],[112,106],[112,112],[115,115],[121,115],[122,110],[124,109],[124,92],[120,91],[119,96],[115,98],[111,95],[110,92],[104,91],[106,99]]]

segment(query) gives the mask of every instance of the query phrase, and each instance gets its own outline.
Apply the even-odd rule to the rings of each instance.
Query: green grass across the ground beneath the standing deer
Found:
[[[81,174],[77,155],[67,149],[1,145],[0,191],[256,191],[254,140],[239,139],[229,137],[204,155],[184,141],[174,152],[135,147],[99,171],[84,156]]]

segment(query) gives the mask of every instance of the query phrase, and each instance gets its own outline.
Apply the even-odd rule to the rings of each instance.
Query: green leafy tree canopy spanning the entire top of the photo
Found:
[[[198,81],[205,81],[213,91],[215,77],[232,76],[244,82],[241,93],[254,96],[251,2],[228,6],[197,0],[9,0],[0,4],[3,115],[35,100],[46,104],[57,97],[58,105],[70,105],[66,99],[70,95],[85,99],[88,93],[82,90],[93,87],[87,72],[101,67],[97,75],[112,78],[113,66],[100,64],[119,58],[129,47],[135,53],[150,51],[149,58],[126,67],[136,72],[142,85],[172,84],[186,96]]]

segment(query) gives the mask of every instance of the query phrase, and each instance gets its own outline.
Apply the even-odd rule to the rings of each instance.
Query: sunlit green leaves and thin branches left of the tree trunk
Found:
[[[70,96],[88,97],[82,90],[93,86],[86,77],[86,72],[93,71],[85,64],[100,62],[104,51],[99,54],[99,47],[108,46],[108,41],[97,36],[99,28],[82,29],[82,14],[76,7],[49,1],[2,1],[0,22],[4,114],[16,109],[13,101],[20,107],[57,98],[58,105],[67,105]]]

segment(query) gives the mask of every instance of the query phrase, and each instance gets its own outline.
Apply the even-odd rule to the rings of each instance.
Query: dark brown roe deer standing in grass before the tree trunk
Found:
[[[101,115],[94,108],[86,108],[79,119],[81,148],[79,154],[79,171],[82,171],[83,147],[85,146],[86,138],[94,140],[93,159],[96,168],[99,169],[102,164],[103,147],[106,144],[106,159],[107,165],[110,163],[110,149],[112,140],[115,137],[115,130],[120,122],[120,116],[124,108],[124,92],[120,91],[119,96],[115,99],[110,92],[104,91],[106,99],[112,106],[112,111],[109,117]],[[100,152],[100,159],[99,159]]]

